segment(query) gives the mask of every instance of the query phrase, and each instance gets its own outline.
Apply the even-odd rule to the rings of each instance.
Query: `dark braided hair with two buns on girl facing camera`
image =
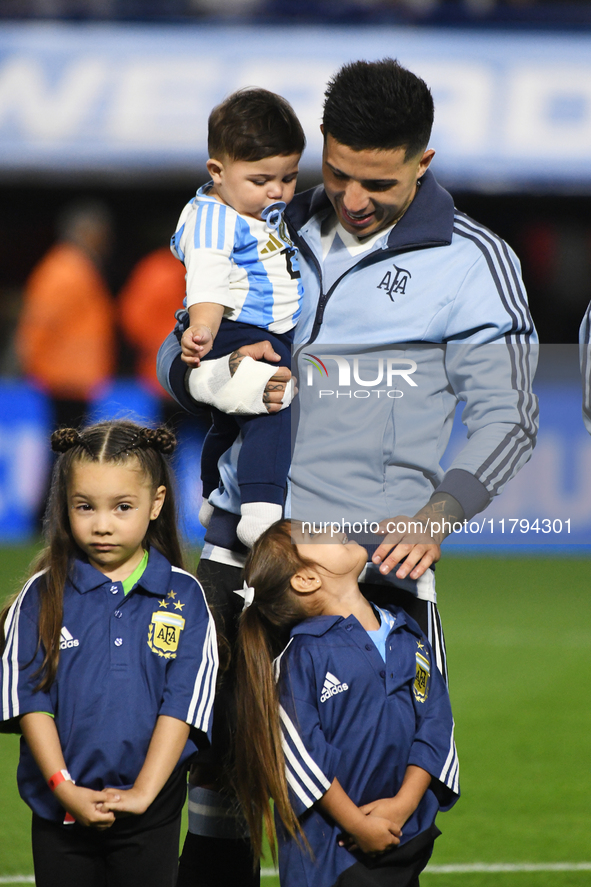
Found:
[[[51,447],[59,455],[44,519],[47,545],[31,569],[31,575],[44,571],[39,580],[38,645],[43,648],[44,657],[37,672],[38,690],[48,690],[57,674],[64,587],[72,560],[80,554],[68,516],[67,491],[73,466],[84,462],[129,465],[141,471],[154,492],[159,486],[166,487],[160,514],[150,521],[143,544],[146,548],[154,546],[172,565],[182,568],[174,484],[165,458],[175,446],[175,435],[168,428],[143,428],[127,420],[98,422],[81,431],[60,428],[52,434]],[[4,637],[4,622],[11,604],[9,601],[0,613],[0,638]]]

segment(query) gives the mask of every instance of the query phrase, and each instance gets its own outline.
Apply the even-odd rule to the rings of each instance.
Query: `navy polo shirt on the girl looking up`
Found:
[[[355,804],[393,797],[409,764],[433,777],[401,844],[428,829],[459,796],[445,682],[420,628],[397,607],[386,661],[355,616],[319,616],[292,631],[279,660],[281,727],[294,810],[310,858],[279,829],[282,887],[328,887],[357,857],[316,802],[337,778]]]

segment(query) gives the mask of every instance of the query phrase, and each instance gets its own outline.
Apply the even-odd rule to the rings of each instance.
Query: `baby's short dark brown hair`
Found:
[[[289,102],[267,89],[239,89],[209,115],[209,156],[262,160],[301,154],[306,137]]]

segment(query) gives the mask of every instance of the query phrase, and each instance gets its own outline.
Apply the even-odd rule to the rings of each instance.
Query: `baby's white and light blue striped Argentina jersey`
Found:
[[[294,247],[277,228],[237,213],[204,185],[183,209],[171,250],[187,269],[186,305],[214,302],[224,316],[275,333],[293,329],[303,294]]]

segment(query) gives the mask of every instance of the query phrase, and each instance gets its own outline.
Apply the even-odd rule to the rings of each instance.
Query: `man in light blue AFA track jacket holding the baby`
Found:
[[[416,515],[426,527],[463,521],[486,508],[535,444],[537,339],[519,262],[500,238],[454,210],[437,184],[427,149],[432,120],[428,88],[396,62],[345,66],[326,93],[324,184],[296,195],[285,212],[305,293],[295,335],[297,517],[335,520],[365,510],[372,520]],[[203,368],[187,373],[178,339],[177,330],[162,346],[159,378],[189,411],[195,400],[214,403],[233,372],[231,381],[241,374],[249,389],[248,357],[269,356],[250,346],[232,355],[231,368],[224,359],[219,372],[209,362],[210,376]],[[264,394],[261,385],[261,412],[279,408],[288,377],[278,371]],[[439,461],[459,401],[469,439],[444,474]],[[240,587],[246,554],[235,534],[238,446],[220,461],[223,485],[210,497],[215,511],[199,566],[206,594],[209,587],[228,613],[231,596],[222,600],[221,589]],[[410,613],[443,673],[431,567],[448,534],[387,537],[364,589],[376,603]]]

